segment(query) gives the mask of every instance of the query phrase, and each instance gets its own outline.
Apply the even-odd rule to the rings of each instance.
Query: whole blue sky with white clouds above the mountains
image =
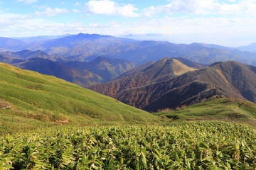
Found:
[[[250,45],[256,0],[0,0],[0,37],[78,33]]]

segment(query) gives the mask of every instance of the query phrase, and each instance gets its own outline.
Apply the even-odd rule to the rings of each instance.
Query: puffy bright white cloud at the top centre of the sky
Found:
[[[127,17],[139,16],[134,11],[137,11],[132,4],[119,6],[114,1],[101,0],[101,1],[88,1],[85,4],[86,13],[102,14],[102,15],[119,15]]]

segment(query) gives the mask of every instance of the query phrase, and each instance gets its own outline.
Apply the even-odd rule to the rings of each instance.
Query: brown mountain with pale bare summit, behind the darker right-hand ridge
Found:
[[[144,66],[142,66],[142,68],[144,68]],[[110,81],[106,84],[95,84],[88,88],[100,94],[114,97],[115,94],[119,94],[127,89],[136,89],[139,86],[154,84],[155,82],[164,81],[176,77],[178,74],[196,69],[188,67],[176,59],[164,58],[154,64],[150,64],[142,70],[137,68],[135,68],[135,70],[138,72],[132,72],[132,74],[124,73],[124,75],[128,75],[128,77],[121,75],[120,79],[115,81]],[[126,96],[124,96],[124,98],[125,97]],[[134,98],[134,96],[130,97]],[[129,100],[129,98],[127,98],[127,100]]]

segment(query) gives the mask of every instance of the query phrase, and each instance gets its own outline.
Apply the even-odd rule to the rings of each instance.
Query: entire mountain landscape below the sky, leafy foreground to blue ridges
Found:
[[[256,168],[253,44],[0,42],[0,169]]]

